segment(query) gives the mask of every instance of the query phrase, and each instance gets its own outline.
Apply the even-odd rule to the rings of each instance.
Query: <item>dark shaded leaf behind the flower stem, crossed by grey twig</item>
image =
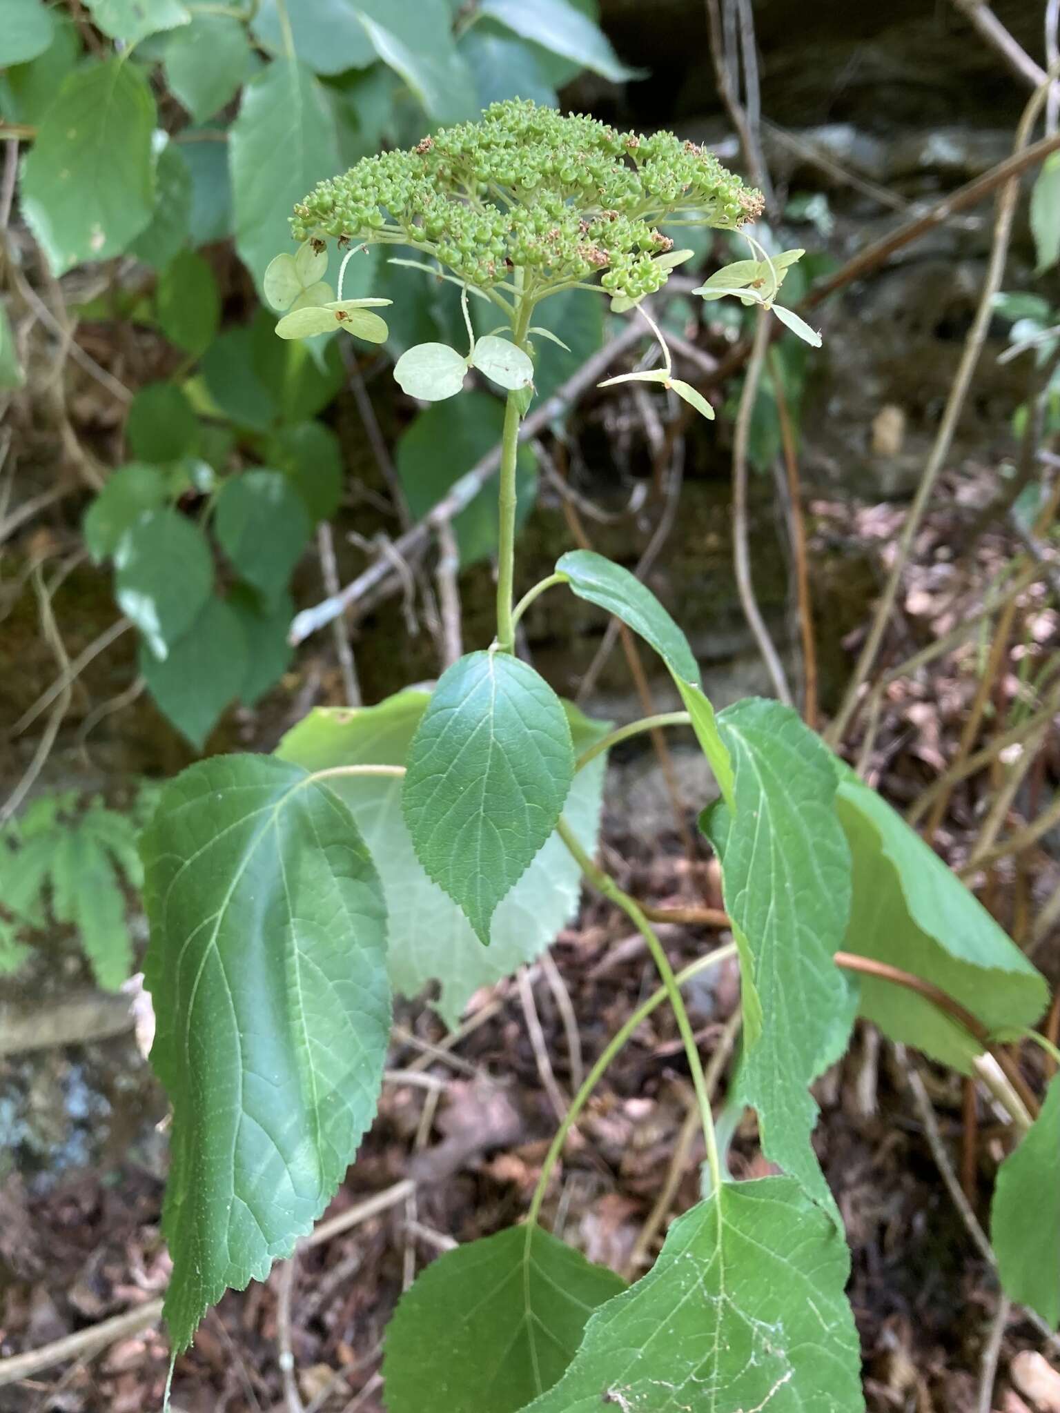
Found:
[[[489,393],[465,393],[459,403],[438,403],[413,420],[397,439],[397,476],[408,512],[421,520],[454,483],[500,441],[505,408]],[[438,455],[438,448],[445,455]],[[516,459],[516,527],[526,521],[537,492],[537,462],[530,447]],[[476,496],[454,519],[461,565],[488,558],[497,547],[496,497]]]

